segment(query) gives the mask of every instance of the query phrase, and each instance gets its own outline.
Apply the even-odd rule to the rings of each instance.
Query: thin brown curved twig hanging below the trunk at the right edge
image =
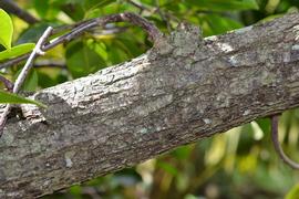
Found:
[[[271,138],[272,138],[275,150],[277,151],[279,157],[282,159],[282,161],[285,161],[285,164],[287,164],[288,166],[290,166],[293,169],[299,169],[299,164],[291,160],[283,153],[281,145],[279,144],[279,139],[278,139],[278,118],[279,118],[279,115],[272,115],[270,118],[271,118]]]

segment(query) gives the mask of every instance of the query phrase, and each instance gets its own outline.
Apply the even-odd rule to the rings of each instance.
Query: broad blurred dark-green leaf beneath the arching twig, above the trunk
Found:
[[[81,41],[66,46],[66,66],[73,77],[85,76],[105,66],[104,60]]]

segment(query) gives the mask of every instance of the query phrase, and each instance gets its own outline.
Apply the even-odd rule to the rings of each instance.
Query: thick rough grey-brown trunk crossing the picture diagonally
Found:
[[[299,14],[200,40],[182,25],[127,63],[34,94],[0,139],[0,198],[32,198],[299,105]]]

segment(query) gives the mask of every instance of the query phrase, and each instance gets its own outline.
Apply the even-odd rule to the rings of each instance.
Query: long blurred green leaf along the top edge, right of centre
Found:
[[[186,0],[190,6],[213,11],[225,10],[258,10],[256,0]]]

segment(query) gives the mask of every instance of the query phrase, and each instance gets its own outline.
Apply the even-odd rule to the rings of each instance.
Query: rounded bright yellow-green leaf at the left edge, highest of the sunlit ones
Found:
[[[11,48],[12,32],[13,25],[9,14],[0,9],[0,44],[2,44],[6,49]]]

